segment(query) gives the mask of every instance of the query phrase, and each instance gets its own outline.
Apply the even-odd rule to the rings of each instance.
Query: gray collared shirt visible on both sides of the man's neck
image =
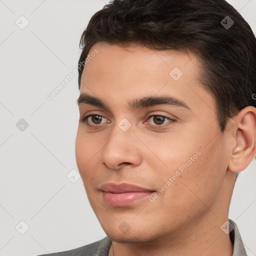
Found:
[[[233,244],[233,256],[247,256],[238,227],[231,219],[229,219],[229,223],[234,227],[229,233],[230,240]],[[106,236],[99,241],[76,249],[38,256],[108,256],[111,243],[112,241]]]

